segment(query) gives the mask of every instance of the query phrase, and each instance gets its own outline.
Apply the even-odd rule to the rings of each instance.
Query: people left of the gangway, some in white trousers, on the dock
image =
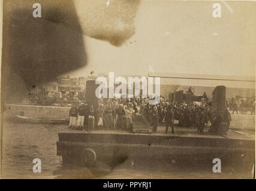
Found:
[[[101,100],[98,109],[86,101],[70,109],[70,127],[77,129],[131,130],[132,116],[138,114],[136,102]]]

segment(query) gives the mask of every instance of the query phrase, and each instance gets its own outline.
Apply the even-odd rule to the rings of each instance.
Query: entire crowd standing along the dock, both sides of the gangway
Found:
[[[218,112],[207,99],[200,103],[176,103],[161,97],[159,104],[150,105],[147,98],[120,98],[101,100],[96,110],[86,101],[74,104],[70,109],[70,127],[131,131],[134,115],[143,115],[153,132],[157,132],[158,125],[165,125],[165,133],[171,127],[173,134],[174,127],[196,127],[200,134],[209,127],[211,132],[218,133],[222,122],[227,123],[228,130],[231,121],[228,107]]]

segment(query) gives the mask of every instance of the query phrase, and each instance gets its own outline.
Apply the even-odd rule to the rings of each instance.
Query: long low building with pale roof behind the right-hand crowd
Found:
[[[255,98],[255,77],[253,76],[221,76],[196,75],[188,73],[158,73],[149,72],[149,76],[161,78],[161,95],[168,97],[177,89],[185,93],[191,87],[195,96],[203,95],[212,99],[212,92],[216,86],[226,87],[226,100],[234,98]],[[199,86],[200,84],[200,86]]]

